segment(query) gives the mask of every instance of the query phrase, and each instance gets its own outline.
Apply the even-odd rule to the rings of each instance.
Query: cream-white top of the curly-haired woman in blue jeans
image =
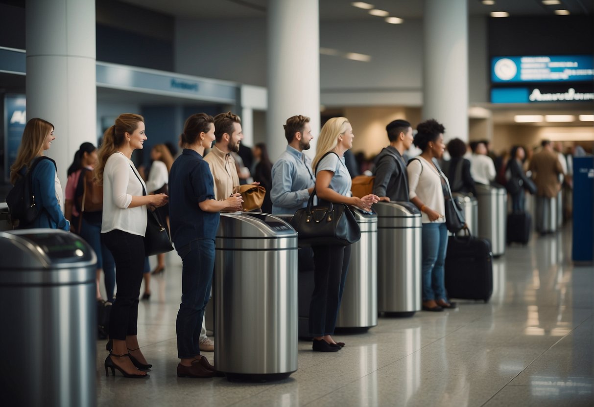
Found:
[[[416,157],[406,167],[409,176],[409,196],[412,200],[416,196],[433,211],[442,215],[434,223],[445,222],[444,191],[441,188],[441,176],[429,161],[423,157]],[[421,213],[423,223],[431,223],[425,212]]]

